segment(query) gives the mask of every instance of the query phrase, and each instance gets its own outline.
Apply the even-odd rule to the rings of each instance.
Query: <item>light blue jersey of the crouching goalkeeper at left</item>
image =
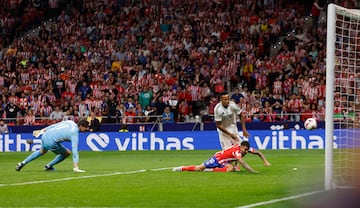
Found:
[[[79,127],[71,120],[62,121],[46,127],[44,134],[41,137],[41,141],[44,149],[51,150],[56,148],[59,143],[64,141],[71,142],[71,149],[73,155],[73,162],[79,162]]]

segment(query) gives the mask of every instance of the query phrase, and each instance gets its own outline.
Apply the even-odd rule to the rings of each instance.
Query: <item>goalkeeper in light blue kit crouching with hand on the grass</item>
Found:
[[[57,156],[47,165],[45,165],[44,169],[45,171],[55,171],[54,165],[65,160],[71,154],[71,151],[61,143],[64,141],[70,141],[74,162],[73,171],[85,172],[84,170],[79,169],[78,143],[79,131],[87,131],[88,126],[89,122],[86,120],[80,120],[78,124],[76,124],[74,121],[68,120],[50,125],[41,130],[34,131],[33,135],[36,138],[41,136],[41,149],[33,152],[24,161],[19,162],[16,165],[15,170],[20,171],[27,163],[44,155],[50,150],[57,154]]]

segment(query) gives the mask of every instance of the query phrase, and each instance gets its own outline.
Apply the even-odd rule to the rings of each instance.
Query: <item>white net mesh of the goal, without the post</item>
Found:
[[[351,186],[360,176],[360,10],[336,7],[334,182]]]

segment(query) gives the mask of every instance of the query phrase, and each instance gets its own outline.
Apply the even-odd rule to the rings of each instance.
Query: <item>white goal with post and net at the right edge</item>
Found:
[[[327,33],[325,187],[332,189],[360,176],[360,10],[330,4]]]

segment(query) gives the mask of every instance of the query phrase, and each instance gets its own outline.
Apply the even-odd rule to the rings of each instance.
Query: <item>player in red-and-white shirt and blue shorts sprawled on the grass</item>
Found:
[[[232,172],[235,167],[231,162],[237,161],[246,170],[256,173],[242,158],[249,151],[250,144],[247,141],[241,144],[235,144],[225,150],[216,152],[212,157],[201,165],[175,167],[173,171],[214,171],[214,172]]]

